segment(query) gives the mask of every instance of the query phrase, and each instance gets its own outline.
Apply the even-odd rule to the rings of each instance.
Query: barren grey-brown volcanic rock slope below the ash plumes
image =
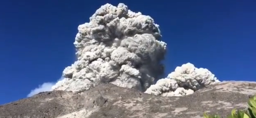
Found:
[[[73,93],[43,92],[0,106],[0,118],[202,118],[204,112],[226,116],[244,109],[256,82],[227,81],[183,97],[161,97],[102,84]]]

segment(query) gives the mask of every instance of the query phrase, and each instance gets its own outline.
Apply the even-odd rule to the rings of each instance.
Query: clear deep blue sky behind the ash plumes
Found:
[[[0,2],[0,104],[59,79],[75,61],[77,26],[106,3],[122,2],[160,25],[168,45],[165,75],[190,62],[220,80],[256,79],[255,0],[58,1]]]

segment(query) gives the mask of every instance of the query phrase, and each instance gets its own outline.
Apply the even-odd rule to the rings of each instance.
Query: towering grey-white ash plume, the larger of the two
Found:
[[[79,92],[99,83],[145,91],[163,74],[166,43],[150,16],[124,4],[105,4],[78,26],[74,45],[77,61],[63,71],[52,90]]]

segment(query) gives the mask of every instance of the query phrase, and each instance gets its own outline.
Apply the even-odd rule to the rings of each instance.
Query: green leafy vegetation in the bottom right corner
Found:
[[[236,110],[234,108],[227,118],[256,118],[256,95],[249,98],[247,103],[248,110]],[[220,116],[218,114],[208,115],[204,113],[204,118],[220,118]]]

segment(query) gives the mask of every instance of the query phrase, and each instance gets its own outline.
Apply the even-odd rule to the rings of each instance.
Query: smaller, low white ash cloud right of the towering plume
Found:
[[[155,85],[151,85],[145,93],[169,96],[184,96],[194,93],[196,90],[220,82],[214,74],[204,68],[196,68],[191,63],[176,67],[167,78],[159,79]]]

